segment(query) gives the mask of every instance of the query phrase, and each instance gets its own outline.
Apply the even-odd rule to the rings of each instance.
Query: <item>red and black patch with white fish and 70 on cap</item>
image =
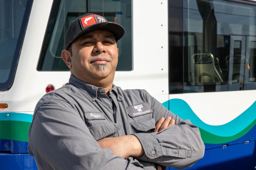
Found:
[[[88,15],[80,18],[82,29],[90,25],[96,24],[97,22],[107,22],[107,20],[100,15]]]

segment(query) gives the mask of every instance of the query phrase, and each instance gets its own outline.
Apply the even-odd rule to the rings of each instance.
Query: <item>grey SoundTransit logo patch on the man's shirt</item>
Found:
[[[136,116],[153,113],[153,110],[150,108],[150,106],[147,102],[140,103],[137,105],[132,105],[132,106],[127,107],[126,109],[127,109],[128,114],[131,117],[136,117]]]

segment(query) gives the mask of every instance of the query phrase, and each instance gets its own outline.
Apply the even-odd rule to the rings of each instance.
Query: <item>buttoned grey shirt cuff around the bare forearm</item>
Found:
[[[149,161],[151,159],[163,156],[161,146],[153,134],[135,133],[132,135],[136,136],[139,139],[144,149],[144,155],[142,157],[139,157],[140,160]]]

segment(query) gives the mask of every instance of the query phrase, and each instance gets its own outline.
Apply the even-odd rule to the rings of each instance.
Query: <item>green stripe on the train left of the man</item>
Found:
[[[0,139],[28,142],[29,122],[0,121]]]

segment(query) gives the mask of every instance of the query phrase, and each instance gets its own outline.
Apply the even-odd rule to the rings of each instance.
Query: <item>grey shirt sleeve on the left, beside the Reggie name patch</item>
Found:
[[[29,154],[41,169],[156,169],[153,162],[101,149],[78,111],[62,100],[48,101],[35,111],[28,139]]]

